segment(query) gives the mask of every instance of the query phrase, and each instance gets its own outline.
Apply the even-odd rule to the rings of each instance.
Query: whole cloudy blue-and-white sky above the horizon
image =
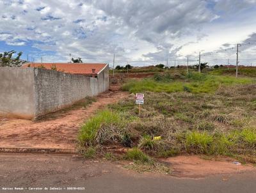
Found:
[[[134,66],[256,66],[256,0],[0,0],[0,52]]]

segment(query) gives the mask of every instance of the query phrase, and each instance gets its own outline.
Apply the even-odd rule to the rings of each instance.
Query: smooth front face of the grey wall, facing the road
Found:
[[[35,117],[33,68],[0,67],[0,116]]]

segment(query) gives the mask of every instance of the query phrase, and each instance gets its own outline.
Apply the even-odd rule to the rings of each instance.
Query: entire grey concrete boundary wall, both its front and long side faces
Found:
[[[108,80],[102,75],[107,70],[93,78],[41,68],[0,68],[0,116],[33,119],[98,95],[108,90],[108,82],[102,82]]]

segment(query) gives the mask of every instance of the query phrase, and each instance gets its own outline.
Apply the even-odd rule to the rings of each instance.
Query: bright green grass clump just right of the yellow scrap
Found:
[[[207,153],[212,142],[212,135],[207,132],[193,131],[186,134],[186,148],[190,151]]]

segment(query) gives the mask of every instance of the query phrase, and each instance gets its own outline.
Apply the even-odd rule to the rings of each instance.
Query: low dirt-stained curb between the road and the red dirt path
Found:
[[[59,148],[1,148],[0,153],[77,153],[76,149]]]

